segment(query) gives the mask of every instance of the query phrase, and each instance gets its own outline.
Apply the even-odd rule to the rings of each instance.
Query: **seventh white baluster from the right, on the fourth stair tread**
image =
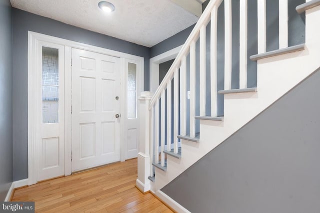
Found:
[[[190,137],[195,137],[195,42],[190,44]]]

